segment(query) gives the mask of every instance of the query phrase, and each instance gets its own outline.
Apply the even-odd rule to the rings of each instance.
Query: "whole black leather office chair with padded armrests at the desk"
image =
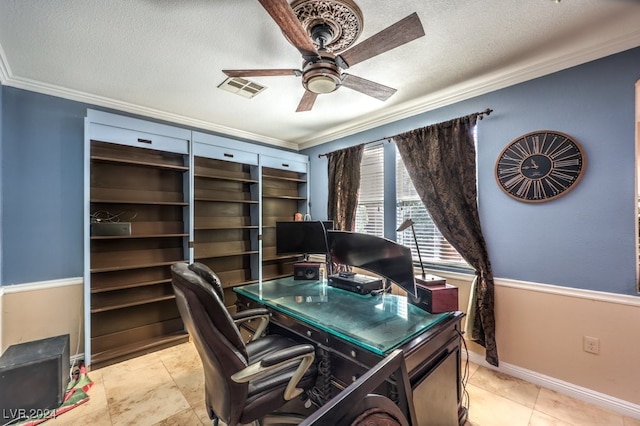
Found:
[[[171,267],[184,324],[200,355],[209,418],[228,426],[257,421],[315,384],[315,348],[279,335],[245,345],[220,297],[186,263]]]

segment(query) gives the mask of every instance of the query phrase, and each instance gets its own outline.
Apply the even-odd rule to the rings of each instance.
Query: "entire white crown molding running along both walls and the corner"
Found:
[[[360,120],[353,120],[341,126],[330,128],[324,132],[316,133],[310,138],[285,141],[282,139],[267,137],[264,135],[246,132],[240,129],[221,126],[209,121],[194,119],[179,114],[173,114],[154,108],[135,105],[103,96],[93,95],[81,91],[51,85],[35,80],[13,76],[9,62],[0,45],[0,83],[19,89],[29,90],[46,95],[56,96],[77,102],[125,111],[158,120],[181,124],[202,130],[209,130],[222,135],[244,140],[260,142],[291,150],[311,148],[326,142],[341,139],[371,130],[385,124],[409,118],[418,114],[442,108],[457,102],[471,99],[486,93],[500,90],[518,83],[539,78],[554,72],[558,72],[573,66],[581,65],[596,59],[600,59],[624,50],[640,46],[640,30],[607,40],[599,45],[589,46],[574,52],[560,51],[551,59],[530,58],[515,66],[489,73],[481,77],[451,86],[420,99],[399,104],[391,109],[378,113],[368,114]]]

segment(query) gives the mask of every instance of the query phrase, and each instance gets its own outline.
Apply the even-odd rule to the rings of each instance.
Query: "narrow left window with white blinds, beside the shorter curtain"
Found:
[[[384,147],[366,147],[360,164],[356,232],[384,236]]]

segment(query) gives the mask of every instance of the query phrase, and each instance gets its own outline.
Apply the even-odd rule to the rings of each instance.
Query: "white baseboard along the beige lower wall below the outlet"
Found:
[[[640,419],[640,405],[596,392],[582,386],[574,385],[573,383],[558,380],[554,377],[536,373],[535,371],[527,370],[526,368],[518,367],[503,361],[500,361],[500,367],[496,368],[484,359],[484,355],[477,354],[475,352],[469,351],[469,361],[482,367],[525,380],[529,383],[533,383],[534,385],[551,389],[563,395],[568,395],[581,401],[588,402],[589,404],[614,411],[624,416]]]

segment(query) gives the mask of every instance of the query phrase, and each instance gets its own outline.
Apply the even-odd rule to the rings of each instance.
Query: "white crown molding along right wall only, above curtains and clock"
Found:
[[[298,144],[300,149],[311,148],[325,142],[334,141],[398,120],[433,111],[437,108],[543,77],[638,46],[640,46],[640,31],[634,31],[624,36],[607,40],[599,45],[589,46],[578,51],[561,51],[552,58],[530,58],[517,65],[431,93],[420,99],[400,104],[392,109],[387,109],[384,112],[369,114],[365,119],[331,128],[326,132],[316,134],[313,138],[300,140]]]

